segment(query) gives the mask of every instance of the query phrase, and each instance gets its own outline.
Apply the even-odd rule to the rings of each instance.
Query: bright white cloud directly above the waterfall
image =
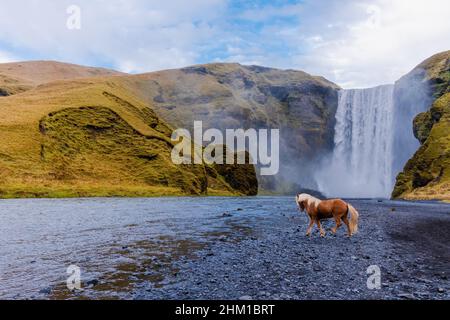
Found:
[[[309,4],[305,10],[318,11],[295,29],[297,43],[320,41],[293,63],[344,87],[392,83],[450,49],[448,0],[330,1],[328,9]]]

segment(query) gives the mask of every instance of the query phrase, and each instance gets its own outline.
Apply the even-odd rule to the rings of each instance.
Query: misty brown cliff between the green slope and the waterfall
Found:
[[[208,64],[129,77],[126,86],[176,128],[280,129],[280,174],[262,191],[314,188],[314,160],[333,148],[338,87],[301,71]],[[298,185],[297,185],[298,184]]]

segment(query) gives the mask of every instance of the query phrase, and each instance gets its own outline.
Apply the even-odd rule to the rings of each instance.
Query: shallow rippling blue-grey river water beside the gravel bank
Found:
[[[0,200],[0,298],[133,298],[148,282],[164,286],[174,261],[210,241],[269,230],[296,210],[292,197]],[[71,295],[70,265],[83,287],[99,281],[95,290]]]

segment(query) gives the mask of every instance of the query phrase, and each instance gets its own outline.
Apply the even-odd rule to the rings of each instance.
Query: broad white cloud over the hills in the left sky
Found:
[[[81,8],[81,30],[66,9]],[[213,38],[210,22],[225,0],[24,0],[2,3],[0,43],[46,59],[108,63],[144,72],[196,62],[196,46]],[[23,10],[26,7],[27,10]]]

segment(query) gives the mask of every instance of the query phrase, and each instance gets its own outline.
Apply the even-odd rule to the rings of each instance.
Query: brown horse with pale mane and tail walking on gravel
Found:
[[[314,223],[316,223],[317,227],[319,227],[320,235],[325,237],[325,230],[322,228],[320,220],[331,218],[334,218],[336,222],[336,227],[331,229],[333,234],[336,234],[338,228],[342,225],[341,220],[347,226],[349,237],[358,232],[358,211],[351,204],[341,199],[320,200],[309,194],[302,193],[297,195],[296,202],[300,211],[306,211],[310,219],[306,236],[311,235]]]

